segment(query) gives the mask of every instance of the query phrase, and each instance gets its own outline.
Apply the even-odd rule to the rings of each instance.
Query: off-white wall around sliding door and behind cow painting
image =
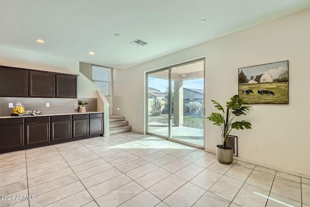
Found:
[[[252,129],[235,130],[232,135],[238,136],[239,157],[310,175],[309,25],[310,9],[114,71],[113,113],[125,115],[134,131],[145,131],[145,72],[155,68],[205,56],[205,107],[209,115],[211,99],[224,104],[238,93],[238,68],[289,60],[289,104],[252,105],[250,114],[243,117],[252,123]],[[215,150],[221,143],[220,130],[211,122],[205,125],[205,147]],[[253,150],[254,144],[259,151]]]

